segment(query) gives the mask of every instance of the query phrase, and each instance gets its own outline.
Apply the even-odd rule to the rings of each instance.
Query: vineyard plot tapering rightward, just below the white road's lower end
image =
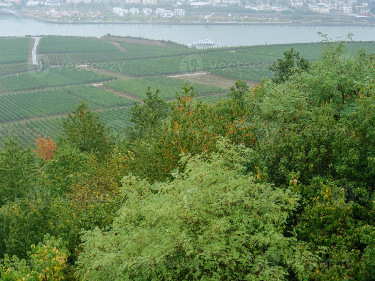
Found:
[[[61,87],[74,84],[95,83],[116,79],[77,67],[54,67],[51,69],[1,76],[0,93]]]

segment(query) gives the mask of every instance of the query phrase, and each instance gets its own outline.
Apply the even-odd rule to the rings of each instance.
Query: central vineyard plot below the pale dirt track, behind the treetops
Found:
[[[151,91],[160,89],[159,96],[163,99],[169,100],[176,96],[176,91],[179,92],[181,90],[183,83],[183,81],[178,79],[159,76],[105,82],[104,85],[124,93],[132,94],[142,99],[147,97],[147,87],[151,87]],[[194,90],[198,91],[198,96],[220,93],[224,94],[227,91],[223,88],[203,84],[193,84],[193,86]]]

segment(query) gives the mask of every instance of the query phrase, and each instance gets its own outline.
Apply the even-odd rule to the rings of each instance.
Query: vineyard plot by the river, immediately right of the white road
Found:
[[[45,36],[40,39],[39,53],[74,53],[116,51],[117,48],[110,42],[94,37],[76,36]]]

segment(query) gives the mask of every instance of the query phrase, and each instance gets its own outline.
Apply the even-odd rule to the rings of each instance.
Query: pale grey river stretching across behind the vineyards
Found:
[[[141,36],[189,44],[210,39],[216,46],[318,42],[318,31],[336,38],[353,33],[354,40],[375,40],[375,26],[318,25],[159,25],[159,24],[54,24],[0,14],[0,36],[75,35],[96,36],[111,33]]]

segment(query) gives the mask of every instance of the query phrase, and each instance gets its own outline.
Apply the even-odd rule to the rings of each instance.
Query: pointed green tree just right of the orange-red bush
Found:
[[[87,110],[85,102],[75,108],[63,121],[63,136],[81,152],[107,152],[110,147],[108,130],[99,116]]]

